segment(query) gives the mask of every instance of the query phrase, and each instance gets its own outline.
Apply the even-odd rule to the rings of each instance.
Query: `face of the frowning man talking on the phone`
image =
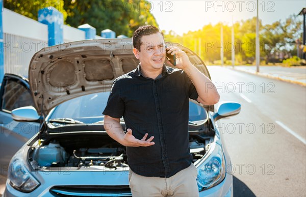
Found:
[[[160,70],[165,62],[166,49],[161,33],[141,37],[140,51],[133,49],[135,57],[139,59],[141,68],[148,71]]]

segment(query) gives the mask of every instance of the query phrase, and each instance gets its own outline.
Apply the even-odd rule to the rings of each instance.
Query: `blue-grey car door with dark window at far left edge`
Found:
[[[13,120],[13,109],[34,106],[27,78],[5,74],[0,89],[0,166],[6,175],[12,156],[39,131],[39,121],[18,122]]]

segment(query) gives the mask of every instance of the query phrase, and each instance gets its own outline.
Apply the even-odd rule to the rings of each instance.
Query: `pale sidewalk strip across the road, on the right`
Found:
[[[290,68],[282,66],[260,66],[259,72],[256,72],[256,66],[224,67],[306,86],[306,66]]]

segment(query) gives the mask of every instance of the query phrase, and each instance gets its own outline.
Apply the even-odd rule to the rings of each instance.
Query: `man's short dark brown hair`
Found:
[[[161,33],[164,38],[164,33],[161,32],[156,26],[143,25],[143,26],[138,27],[138,29],[135,30],[133,37],[132,37],[133,46],[137,48],[138,51],[140,51],[140,46],[142,44],[141,42],[142,36],[147,36],[147,35],[156,34],[156,33]]]

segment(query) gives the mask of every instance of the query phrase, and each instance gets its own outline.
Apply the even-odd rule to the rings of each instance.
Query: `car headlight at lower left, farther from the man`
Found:
[[[22,162],[21,152],[16,154],[9,165],[8,180],[9,184],[21,192],[31,192],[40,183],[31,175],[28,166]]]

